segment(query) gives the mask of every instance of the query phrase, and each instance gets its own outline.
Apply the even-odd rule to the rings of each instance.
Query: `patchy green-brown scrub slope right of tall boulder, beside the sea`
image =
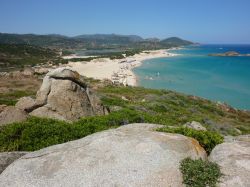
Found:
[[[209,131],[223,135],[250,133],[250,113],[228,111],[214,102],[170,90],[141,87],[105,86],[96,90],[110,107],[128,108],[144,113],[145,120],[166,126],[181,126],[197,121]],[[125,98],[125,99],[124,99]]]

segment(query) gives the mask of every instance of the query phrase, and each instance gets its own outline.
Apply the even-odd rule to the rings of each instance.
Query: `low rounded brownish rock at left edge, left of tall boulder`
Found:
[[[26,120],[28,117],[27,113],[14,107],[7,106],[0,113],[0,126],[14,122],[21,122]]]

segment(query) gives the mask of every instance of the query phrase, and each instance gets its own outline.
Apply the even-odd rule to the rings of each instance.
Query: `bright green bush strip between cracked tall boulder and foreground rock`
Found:
[[[132,110],[121,110],[107,116],[86,117],[74,123],[30,117],[25,122],[0,128],[0,152],[35,151],[109,128],[142,121],[142,117]]]

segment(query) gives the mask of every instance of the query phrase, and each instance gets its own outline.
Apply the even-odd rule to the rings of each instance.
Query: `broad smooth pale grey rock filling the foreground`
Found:
[[[179,163],[206,158],[179,134],[130,124],[29,153],[0,175],[0,186],[183,186]]]

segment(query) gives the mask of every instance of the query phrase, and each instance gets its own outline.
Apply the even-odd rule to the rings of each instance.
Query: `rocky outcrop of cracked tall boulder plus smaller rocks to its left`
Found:
[[[35,100],[23,97],[15,107],[1,105],[0,125],[23,121],[28,114],[75,121],[85,116],[105,115],[108,111],[82,76],[62,67],[47,73]]]

